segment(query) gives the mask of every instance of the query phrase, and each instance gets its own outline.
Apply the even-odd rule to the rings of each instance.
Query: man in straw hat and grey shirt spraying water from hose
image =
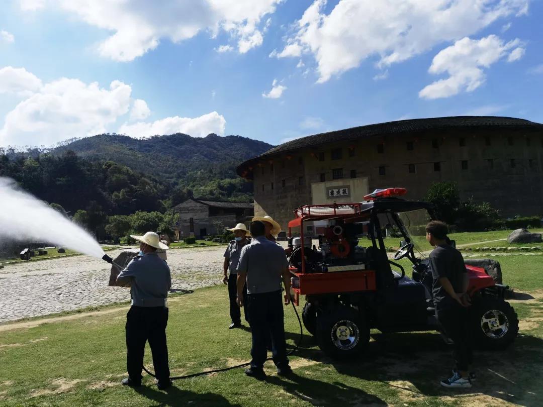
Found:
[[[122,383],[132,387],[141,385],[145,343],[149,341],[157,385],[163,390],[172,385],[166,345],[166,297],[172,277],[168,264],[159,258],[156,250],[168,250],[168,246],[161,243],[155,232],[130,237],[140,242],[140,253],[117,276],[118,283],[130,283],[132,298],[125,328],[128,378]]]

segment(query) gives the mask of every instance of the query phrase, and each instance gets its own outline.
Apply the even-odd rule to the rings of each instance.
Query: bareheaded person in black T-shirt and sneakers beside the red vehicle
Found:
[[[468,274],[462,253],[447,244],[447,231],[447,225],[441,221],[433,220],[426,225],[426,240],[434,246],[430,269],[435,316],[443,333],[454,342],[456,361],[452,377],[441,380],[441,385],[471,387],[475,374],[469,373],[473,355],[468,326],[470,297],[466,294]]]

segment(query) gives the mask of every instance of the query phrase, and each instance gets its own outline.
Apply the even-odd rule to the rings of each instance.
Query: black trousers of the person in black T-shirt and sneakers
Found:
[[[436,308],[435,316],[444,334],[454,341],[452,357],[457,370],[467,371],[473,361],[468,308],[456,304],[451,308]]]

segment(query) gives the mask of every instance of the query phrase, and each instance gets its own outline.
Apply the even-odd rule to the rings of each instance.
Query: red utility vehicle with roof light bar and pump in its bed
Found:
[[[431,249],[425,226],[434,219],[433,210],[429,203],[398,198],[405,193],[403,188],[388,188],[365,196],[365,202],[301,206],[288,224],[293,302],[299,305],[305,295],[304,325],[332,357],[363,351],[373,328],[439,330],[432,275],[428,259],[422,256],[422,250]],[[323,232],[318,247],[304,236],[308,222],[313,230]],[[299,228],[299,237],[292,237],[293,228]],[[393,259],[388,258],[384,241],[388,231],[402,237]],[[405,274],[405,261],[398,263],[403,258],[412,263],[412,278]],[[507,347],[519,330],[514,309],[504,301],[508,287],[496,284],[484,269],[466,269],[475,345]]]

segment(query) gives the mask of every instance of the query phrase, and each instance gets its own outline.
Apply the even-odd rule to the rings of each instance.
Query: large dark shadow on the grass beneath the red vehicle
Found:
[[[340,374],[396,387],[394,381],[408,381],[413,397],[493,397],[523,405],[541,405],[543,392],[543,340],[519,335],[505,351],[475,351],[477,381],[471,389],[450,390],[439,381],[451,376],[452,348],[437,333],[372,334],[367,352],[358,360],[336,361],[315,348],[315,340],[304,333],[296,356],[333,366]],[[287,333],[287,338],[297,334]],[[392,383],[391,383],[392,382]],[[318,384],[315,384],[318,385]],[[405,389],[397,388],[400,392]],[[403,391],[402,391],[403,390]],[[488,400],[481,403],[488,403]]]

